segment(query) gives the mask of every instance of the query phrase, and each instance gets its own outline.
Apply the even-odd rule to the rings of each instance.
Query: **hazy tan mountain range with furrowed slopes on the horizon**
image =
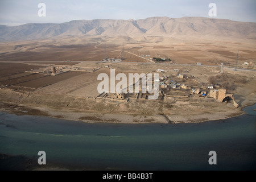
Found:
[[[0,25],[1,42],[61,38],[70,35],[256,39],[256,23],[202,17],[153,17],[138,20],[94,19],[72,20],[66,23],[28,23],[20,26]]]

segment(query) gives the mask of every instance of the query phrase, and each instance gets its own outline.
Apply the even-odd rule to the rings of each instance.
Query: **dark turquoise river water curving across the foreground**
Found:
[[[256,105],[222,121],[89,124],[0,112],[0,153],[88,169],[256,169]],[[208,163],[217,152],[217,165]]]

